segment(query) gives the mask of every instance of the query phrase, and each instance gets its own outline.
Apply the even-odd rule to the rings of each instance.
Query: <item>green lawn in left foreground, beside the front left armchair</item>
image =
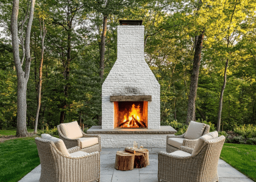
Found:
[[[40,164],[34,137],[0,144],[0,181],[16,182]]]

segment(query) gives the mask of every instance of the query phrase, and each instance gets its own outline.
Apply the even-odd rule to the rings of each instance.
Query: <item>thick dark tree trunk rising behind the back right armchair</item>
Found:
[[[204,39],[204,31],[201,35],[196,36],[196,47],[194,50],[194,63],[193,70],[191,74],[191,84],[190,84],[190,95],[188,96],[188,113],[187,113],[187,124],[190,121],[196,120],[196,92],[197,92],[197,83],[199,76],[199,68],[201,63],[201,52],[202,44]]]

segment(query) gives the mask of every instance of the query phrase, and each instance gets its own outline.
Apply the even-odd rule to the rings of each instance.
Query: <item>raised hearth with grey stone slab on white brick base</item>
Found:
[[[161,126],[160,129],[101,129],[92,126],[87,134],[101,135],[101,147],[132,147],[133,141],[144,147],[166,147],[166,136],[174,135],[177,131],[171,126]]]

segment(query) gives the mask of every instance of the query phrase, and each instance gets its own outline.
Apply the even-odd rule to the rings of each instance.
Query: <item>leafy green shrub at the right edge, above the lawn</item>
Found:
[[[256,138],[256,126],[253,126],[252,124],[244,124],[240,127],[236,126],[234,128],[234,132],[243,136],[244,138]]]

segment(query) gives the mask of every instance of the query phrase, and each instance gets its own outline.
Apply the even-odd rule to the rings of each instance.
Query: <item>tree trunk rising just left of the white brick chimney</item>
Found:
[[[104,15],[103,17],[103,30],[101,35],[101,62],[100,62],[100,71],[99,76],[101,79],[103,79],[104,75],[104,56],[105,56],[105,39],[106,39],[106,33],[107,33],[107,15]]]

